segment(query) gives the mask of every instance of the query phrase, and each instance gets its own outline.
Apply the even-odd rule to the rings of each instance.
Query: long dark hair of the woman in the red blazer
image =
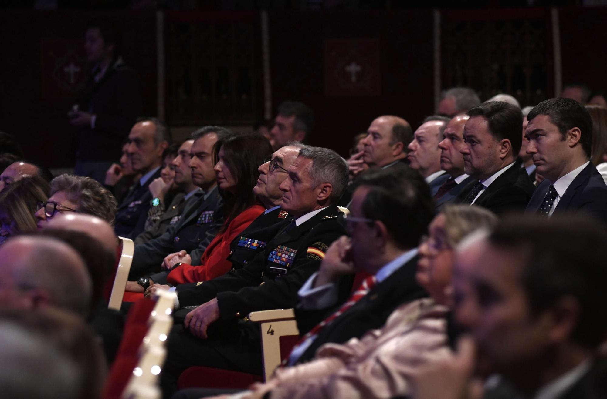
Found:
[[[270,141],[259,133],[231,134],[220,138],[213,147],[213,162],[219,160],[223,147],[223,161],[236,178],[234,193],[220,190],[223,197],[224,220],[220,232],[243,210],[257,202],[253,187],[257,184],[257,168],[272,155]]]

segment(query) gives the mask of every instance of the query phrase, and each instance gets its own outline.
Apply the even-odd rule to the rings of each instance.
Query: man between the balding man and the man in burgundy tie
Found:
[[[413,141],[409,143],[409,166],[426,179],[432,196],[449,179],[449,174],[441,169],[441,149],[438,147],[449,121],[444,116],[429,116],[415,130]]]

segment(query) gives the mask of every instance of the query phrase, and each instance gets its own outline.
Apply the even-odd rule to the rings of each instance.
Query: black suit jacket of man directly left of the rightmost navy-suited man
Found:
[[[469,183],[453,203],[463,203],[476,183],[478,180]],[[523,212],[534,190],[529,175],[517,160],[481,193],[473,205],[489,209],[498,216],[508,212]]]

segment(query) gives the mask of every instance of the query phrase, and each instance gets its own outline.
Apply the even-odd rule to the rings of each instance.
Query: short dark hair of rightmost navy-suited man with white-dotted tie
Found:
[[[527,121],[531,122],[538,115],[548,115],[550,121],[558,127],[563,140],[569,130],[574,127],[580,129],[582,149],[588,157],[591,156],[592,118],[586,107],[571,98],[551,98],[540,102],[529,111]]]

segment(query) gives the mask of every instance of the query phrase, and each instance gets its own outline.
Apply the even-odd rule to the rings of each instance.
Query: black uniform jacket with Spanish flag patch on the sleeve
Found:
[[[256,310],[296,306],[297,291],[319,269],[328,246],[345,234],[338,214],[336,206],[329,206],[300,226],[284,227],[246,266],[178,290],[180,306],[200,305],[217,297],[224,320]]]

